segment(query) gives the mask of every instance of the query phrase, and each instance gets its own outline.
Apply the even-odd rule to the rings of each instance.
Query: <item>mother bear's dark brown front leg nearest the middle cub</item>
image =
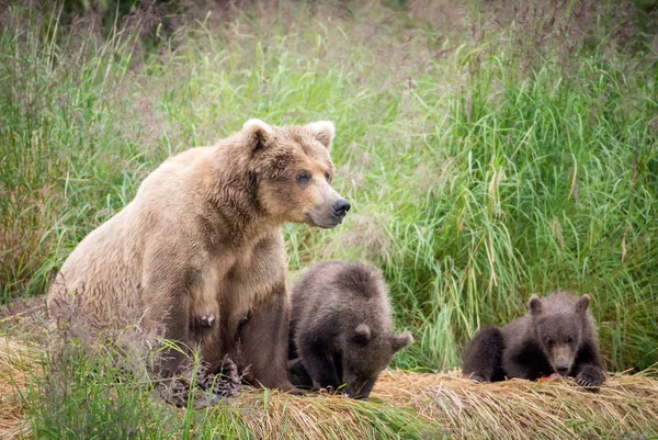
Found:
[[[240,329],[240,359],[247,381],[266,388],[295,391],[287,375],[290,301],[285,282],[257,304]]]

